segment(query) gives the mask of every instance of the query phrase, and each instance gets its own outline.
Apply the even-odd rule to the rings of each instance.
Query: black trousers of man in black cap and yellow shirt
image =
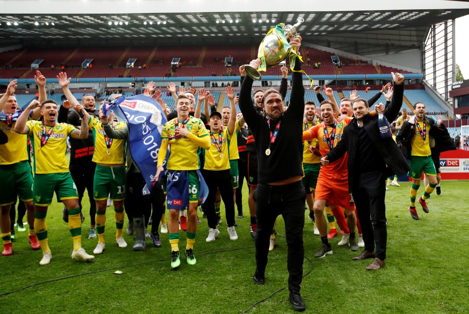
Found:
[[[220,190],[221,199],[225,204],[225,215],[228,227],[235,225],[235,203],[233,201],[233,185],[231,183],[230,169],[227,170],[205,170],[203,169],[205,183],[209,187],[209,195],[204,203],[207,222],[212,229],[216,228],[218,219],[215,214],[216,189]]]

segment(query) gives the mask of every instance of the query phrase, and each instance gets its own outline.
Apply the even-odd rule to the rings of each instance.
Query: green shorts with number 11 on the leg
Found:
[[[126,167],[104,167],[96,165],[94,171],[93,195],[96,201],[123,201],[126,198]]]

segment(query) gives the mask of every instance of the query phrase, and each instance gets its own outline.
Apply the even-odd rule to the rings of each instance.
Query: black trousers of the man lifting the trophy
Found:
[[[303,275],[303,227],[306,193],[301,181],[284,186],[259,183],[256,189],[256,265],[265,271],[269,253],[269,239],[278,215],[285,222],[287,241],[288,289],[299,292]]]

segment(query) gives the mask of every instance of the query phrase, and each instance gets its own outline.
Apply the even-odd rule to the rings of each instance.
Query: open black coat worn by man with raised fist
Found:
[[[404,85],[394,85],[394,95],[391,103],[384,109],[384,116],[388,121],[394,121],[401,110],[402,100],[404,96]],[[371,116],[367,114],[363,117],[363,127],[373,141],[374,147],[378,150],[386,167],[384,175],[389,177],[393,174],[401,176],[410,170],[410,167],[402,155],[399,147],[394,142],[392,137],[382,138],[378,127],[378,115]],[[348,126],[343,129],[343,134],[339,144],[334,147],[328,154],[326,154],[329,162],[338,160],[345,152],[348,152],[348,188],[352,190],[354,169],[359,167],[357,161],[357,150],[361,149],[358,145],[358,125],[357,120],[354,118]],[[374,167],[378,165],[370,165]],[[380,167],[382,168],[382,167]]]

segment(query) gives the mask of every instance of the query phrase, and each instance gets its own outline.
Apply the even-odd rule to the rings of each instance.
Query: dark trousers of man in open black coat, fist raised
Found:
[[[358,219],[362,226],[365,250],[375,249],[376,257],[386,258],[386,178],[381,171],[354,175],[352,196],[357,207]]]

